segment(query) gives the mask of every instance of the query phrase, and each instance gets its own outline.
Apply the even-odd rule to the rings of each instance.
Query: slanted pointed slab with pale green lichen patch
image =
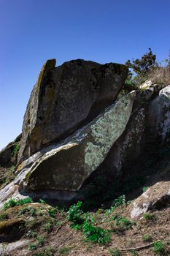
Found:
[[[65,140],[62,146],[54,146],[37,159],[23,178],[25,189],[79,190],[125,130],[134,97],[135,91],[132,91]]]

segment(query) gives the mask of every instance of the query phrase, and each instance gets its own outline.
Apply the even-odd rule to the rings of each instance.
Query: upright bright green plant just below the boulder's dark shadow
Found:
[[[84,219],[82,218],[83,211],[81,210],[81,206],[82,202],[80,201],[76,205],[71,206],[67,212],[66,219],[74,224],[82,224]]]

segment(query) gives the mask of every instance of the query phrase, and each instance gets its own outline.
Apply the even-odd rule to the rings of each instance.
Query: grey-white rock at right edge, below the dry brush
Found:
[[[148,110],[148,124],[153,138],[161,138],[163,143],[170,140],[170,86],[152,99]]]

